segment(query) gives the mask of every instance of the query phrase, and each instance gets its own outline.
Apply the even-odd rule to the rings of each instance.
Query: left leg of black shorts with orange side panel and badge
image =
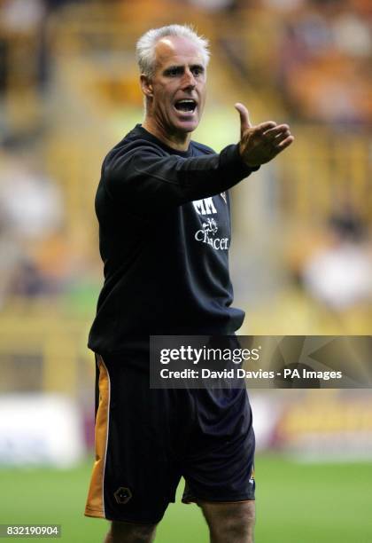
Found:
[[[97,356],[96,462],[85,514],[159,523],[181,478],[172,455],[172,391],[150,390],[149,373]]]

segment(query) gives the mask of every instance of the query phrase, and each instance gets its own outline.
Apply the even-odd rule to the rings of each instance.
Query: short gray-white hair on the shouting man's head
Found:
[[[190,25],[168,25],[167,27],[151,28],[143,34],[136,44],[138,67],[141,74],[151,77],[155,72],[155,46],[159,40],[167,35],[188,38],[200,48],[205,61],[205,67],[209,61],[209,42],[198,35]]]

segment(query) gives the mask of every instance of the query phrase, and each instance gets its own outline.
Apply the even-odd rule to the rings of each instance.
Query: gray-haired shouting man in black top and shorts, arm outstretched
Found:
[[[142,126],[102,167],[96,210],[105,285],[89,347],[97,358],[96,462],[86,515],[106,543],[150,542],[181,476],[213,543],[251,543],[252,414],[245,390],[150,390],[151,334],[234,334],[228,189],[291,145],[287,125],[252,126],[220,154],[190,140],[205,105],[207,42],[189,27],[137,43]]]

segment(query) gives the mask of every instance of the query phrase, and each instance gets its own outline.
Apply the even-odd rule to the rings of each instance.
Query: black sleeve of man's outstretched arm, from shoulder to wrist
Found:
[[[141,207],[162,209],[179,206],[222,193],[247,177],[253,170],[244,164],[236,145],[221,153],[183,158],[164,156],[154,146],[136,146],[132,152],[118,151],[106,159],[105,185],[113,198],[130,200]]]

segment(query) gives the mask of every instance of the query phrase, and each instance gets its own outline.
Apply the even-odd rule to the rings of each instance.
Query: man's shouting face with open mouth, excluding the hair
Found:
[[[205,62],[196,44],[178,36],[159,40],[155,53],[155,74],[143,80],[151,91],[149,114],[162,131],[182,136],[198,127],[203,113]]]

